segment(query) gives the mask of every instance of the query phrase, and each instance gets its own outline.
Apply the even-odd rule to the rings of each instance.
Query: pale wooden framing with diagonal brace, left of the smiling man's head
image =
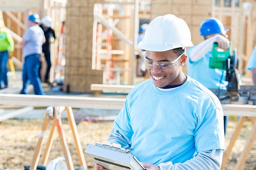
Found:
[[[113,14],[113,7],[111,5],[124,5],[120,7],[120,9],[124,12],[124,15]],[[125,1],[106,1],[104,5],[108,5],[107,14],[102,14],[102,5],[97,4],[94,5],[94,22],[93,22],[93,41],[92,41],[92,69],[93,70],[103,70],[103,83],[104,84],[120,84],[120,72],[124,72],[123,81],[129,82],[129,84],[134,84],[134,79],[136,77],[136,63],[135,63],[135,51],[137,49],[137,37],[138,37],[138,11],[139,5],[138,0],[133,0],[133,2],[125,2]],[[129,7],[127,7],[129,6]],[[133,10],[133,15],[131,15],[131,11]],[[122,12],[119,12],[122,13]],[[118,29],[115,25],[118,23],[126,23],[127,27],[123,27],[120,25],[120,29]],[[102,25],[105,28],[108,28],[108,36],[103,36],[102,33]],[[131,30],[133,30],[133,36],[131,36]],[[110,34],[110,35],[109,35]],[[115,34],[115,37],[113,37]],[[111,36],[111,45],[107,43],[107,49],[102,48],[103,40],[106,37]],[[105,38],[104,38],[105,37]],[[115,41],[122,40],[125,42],[125,45],[116,43],[112,45],[112,37],[115,38]],[[132,39],[132,40],[131,40]],[[109,46],[110,49],[109,49]],[[113,48],[122,47],[123,50],[113,50]],[[128,47],[127,47],[128,46]],[[107,54],[107,57],[104,57],[103,54]],[[113,58],[113,55],[118,55],[118,57]],[[131,58],[132,57],[132,58]],[[106,67],[101,67],[102,60],[106,60]],[[109,64],[109,62],[111,64]],[[123,63],[124,67],[116,67],[114,66],[114,62],[117,65],[120,65],[120,62]],[[112,74],[116,73],[115,82],[108,80]],[[129,73],[130,72],[130,73]]]

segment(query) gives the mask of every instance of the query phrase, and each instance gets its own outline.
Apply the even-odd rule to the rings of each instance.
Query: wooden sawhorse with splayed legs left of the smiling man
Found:
[[[82,151],[82,147],[81,147],[81,143],[80,143],[78,133],[77,133],[77,127],[76,127],[76,123],[75,123],[75,120],[74,120],[74,115],[73,115],[72,108],[71,107],[56,106],[56,107],[48,107],[47,110],[46,110],[46,116],[44,118],[44,123],[42,125],[41,133],[39,135],[39,140],[38,140],[38,143],[36,145],[36,151],[34,153],[33,161],[32,161],[32,164],[31,164],[31,167],[30,167],[29,170],[36,170],[36,167],[38,165],[38,161],[39,161],[39,158],[40,158],[40,155],[41,155],[44,135],[45,135],[47,126],[48,126],[48,124],[49,124],[49,122],[52,118],[54,118],[54,121],[52,123],[51,132],[50,132],[49,139],[48,139],[48,142],[46,144],[45,151],[44,151],[43,164],[46,165],[47,160],[49,158],[51,145],[53,143],[53,134],[54,134],[55,129],[57,128],[58,133],[59,133],[59,138],[60,138],[60,141],[61,141],[61,148],[62,148],[62,151],[64,153],[64,157],[65,157],[65,160],[66,160],[66,163],[67,163],[67,168],[68,168],[68,170],[74,170],[74,165],[73,165],[73,162],[72,162],[71,154],[69,152],[69,147],[67,145],[65,133],[64,133],[63,128],[61,126],[61,112],[63,110],[67,111],[67,117],[68,117],[70,128],[72,130],[74,143],[76,145],[76,150],[77,150],[77,155],[78,155],[78,158],[79,158],[80,166],[87,169],[85,159],[84,159],[84,155],[83,155],[83,151]]]

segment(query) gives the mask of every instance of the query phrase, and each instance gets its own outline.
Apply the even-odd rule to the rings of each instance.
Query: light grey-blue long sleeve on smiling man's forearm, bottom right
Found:
[[[223,150],[207,150],[184,163],[160,163],[160,170],[220,170]]]

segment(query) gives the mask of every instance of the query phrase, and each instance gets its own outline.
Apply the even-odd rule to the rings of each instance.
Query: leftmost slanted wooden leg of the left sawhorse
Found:
[[[37,145],[36,145],[36,149],[35,149],[36,151],[34,153],[32,164],[31,164],[29,170],[36,170],[36,167],[38,165],[38,161],[39,161],[39,158],[40,158],[40,155],[41,155],[44,135],[45,135],[47,126],[49,124],[49,121],[50,121],[50,117],[47,115],[47,112],[46,112],[46,115],[44,117],[44,123],[42,125],[42,130],[40,132],[39,139],[38,139],[38,142],[37,142]]]

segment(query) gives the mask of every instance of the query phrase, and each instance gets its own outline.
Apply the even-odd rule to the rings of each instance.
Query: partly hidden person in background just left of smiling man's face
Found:
[[[139,35],[138,35],[138,43],[141,42],[141,40],[144,38],[144,33],[146,28],[148,27],[148,24],[142,24],[139,28]],[[139,54],[136,56],[138,60],[138,65],[137,65],[137,76],[144,76],[146,74],[146,66],[144,62],[144,54],[145,50],[138,49]]]

